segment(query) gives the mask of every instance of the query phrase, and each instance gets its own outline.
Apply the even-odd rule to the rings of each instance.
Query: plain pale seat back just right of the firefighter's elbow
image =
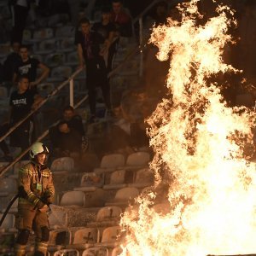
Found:
[[[60,206],[84,207],[85,195],[82,191],[67,191],[62,195]]]

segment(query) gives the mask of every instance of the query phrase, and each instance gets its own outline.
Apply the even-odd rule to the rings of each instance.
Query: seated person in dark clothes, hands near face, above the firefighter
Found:
[[[58,157],[76,158],[88,148],[82,119],[71,106],[64,108],[59,124],[49,129],[49,137]]]

